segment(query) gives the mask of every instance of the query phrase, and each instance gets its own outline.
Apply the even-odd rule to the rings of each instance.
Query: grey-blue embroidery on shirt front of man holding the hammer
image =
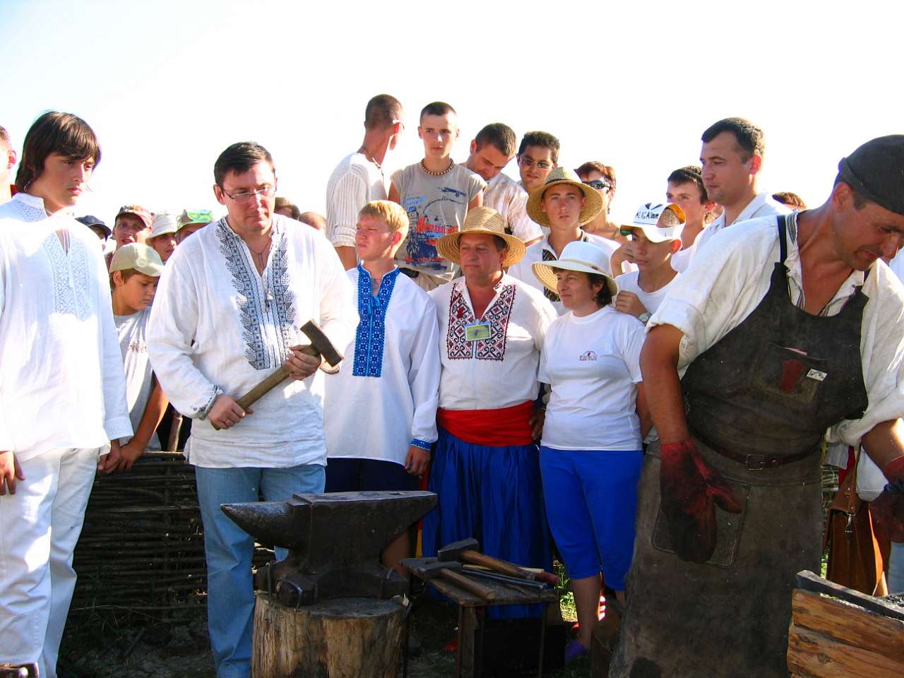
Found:
[[[245,358],[255,370],[276,368],[286,362],[288,347],[297,342],[293,326],[295,295],[289,288],[286,233],[278,229],[277,221],[273,222],[272,252],[264,269],[267,286],[262,290],[254,262],[225,219],[217,221],[216,232],[226,268],[232,274],[232,287],[238,292]],[[275,325],[281,340],[278,345],[266,343],[264,325]]]

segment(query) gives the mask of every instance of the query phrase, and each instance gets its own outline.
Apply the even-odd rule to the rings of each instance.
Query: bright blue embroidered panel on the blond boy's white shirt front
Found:
[[[383,342],[386,338],[386,309],[390,304],[399,269],[383,276],[377,296],[372,295],[372,278],[358,264],[358,316],[361,322],[354,333],[355,377],[379,377],[383,373]]]

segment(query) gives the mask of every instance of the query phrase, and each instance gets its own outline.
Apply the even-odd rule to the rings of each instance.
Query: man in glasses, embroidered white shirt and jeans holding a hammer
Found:
[[[311,353],[328,357],[330,344],[348,344],[358,316],[330,243],[274,213],[277,178],[267,149],[233,144],[213,174],[213,192],[229,213],[170,258],[147,347],[174,407],[195,419],[185,452],[196,466],[217,676],[246,678],[254,540],[220,505],[323,492],[324,388],[320,355]],[[299,330],[311,320],[322,332]],[[281,368],[291,380],[259,395],[255,387]],[[259,395],[253,410],[241,404],[249,391]]]

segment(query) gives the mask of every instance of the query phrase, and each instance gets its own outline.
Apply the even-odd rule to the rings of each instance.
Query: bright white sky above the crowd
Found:
[[[843,155],[904,132],[904,5],[618,5],[0,0],[0,125],[21,149],[44,110],[88,120],[103,160],[77,212],[108,223],[127,202],[219,213],[213,161],[247,139],[274,155],[280,194],[323,212],[327,177],[381,92],[408,123],[387,168],[421,157],[419,109],[441,99],[458,111],[458,160],[502,121],[560,137],[562,165],[614,165],[617,218],[662,199],[719,118],[763,127],[761,186],[811,205]]]

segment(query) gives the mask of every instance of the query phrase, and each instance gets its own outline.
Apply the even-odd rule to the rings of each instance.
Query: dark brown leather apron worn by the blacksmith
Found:
[[[682,380],[687,420],[707,463],[743,506],[716,508],[709,561],[680,560],[659,510],[659,449],[647,449],[637,538],[610,676],[786,676],[791,590],[819,571],[819,447],[827,428],[867,407],[860,287],[832,316],[791,303],[786,217],[780,260],[757,308],[702,353]]]

